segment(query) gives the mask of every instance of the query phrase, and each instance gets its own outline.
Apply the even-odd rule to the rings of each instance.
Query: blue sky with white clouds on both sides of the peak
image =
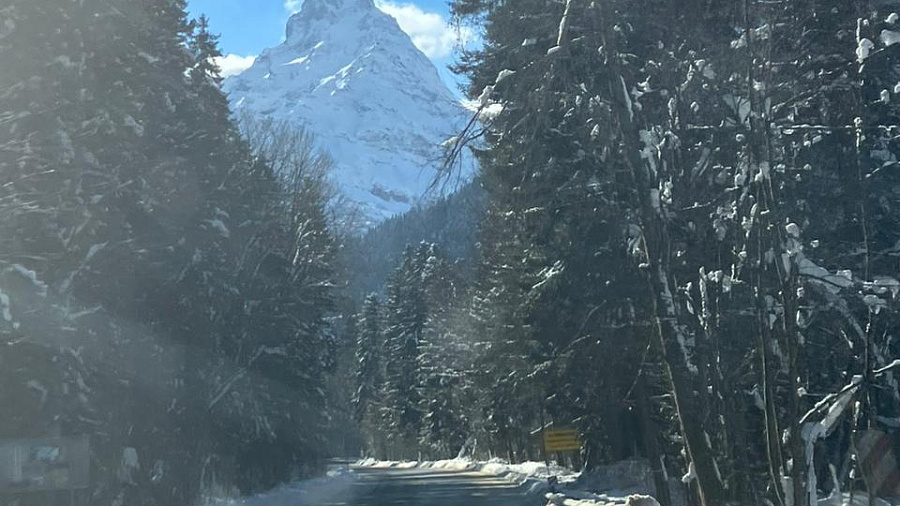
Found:
[[[221,35],[220,62],[224,73],[246,68],[263,49],[274,47],[284,38],[291,12],[299,10],[302,0],[188,0],[194,17],[206,14],[212,31]],[[447,0],[375,0],[378,7],[394,16],[406,33],[435,63],[454,91],[458,79],[446,67],[453,62],[457,31],[449,23]]]

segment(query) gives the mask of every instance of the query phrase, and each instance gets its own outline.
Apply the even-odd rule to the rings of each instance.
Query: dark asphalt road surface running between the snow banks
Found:
[[[354,469],[351,486],[317,506],[538,506],[523,487],[481,473],[428,469]]]

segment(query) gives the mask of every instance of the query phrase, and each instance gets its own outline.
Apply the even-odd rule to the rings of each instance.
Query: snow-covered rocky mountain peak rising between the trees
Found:
[[[467,119],[431,61],[373,0],[306,0],[285,42],[224,86],[235,112],[313,132],[366,225],[421,201],[441,144]]]

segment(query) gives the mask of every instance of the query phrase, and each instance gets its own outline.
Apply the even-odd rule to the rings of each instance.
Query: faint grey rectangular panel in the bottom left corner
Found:
[[[0,440],[0,492],[83,489],[89,471],[87,436]]]

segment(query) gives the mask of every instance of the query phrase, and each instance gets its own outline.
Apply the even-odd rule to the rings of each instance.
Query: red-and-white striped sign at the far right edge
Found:
[[[873,429],[863,432],[855,443],[856,458],[869,490],[877,497],[900,496],[900,468],[891,437]]]

